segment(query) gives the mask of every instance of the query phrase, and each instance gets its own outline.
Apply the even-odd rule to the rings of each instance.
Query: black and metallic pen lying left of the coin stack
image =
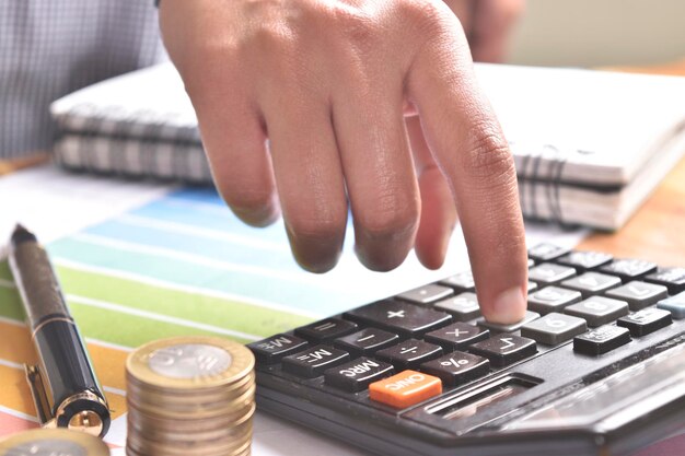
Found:
[[[105,435],[109,407],[79,330],[47,253],[21,225],[10,241],[10,267],[38,353],[39,364],[26,365],[26,378],[42,424]]]

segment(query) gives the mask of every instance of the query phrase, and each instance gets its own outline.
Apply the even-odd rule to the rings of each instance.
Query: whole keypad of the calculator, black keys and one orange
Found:
[[[550,244],[530,258],[529,311],[513,325],[481,317],[465,271],[249,348],[260,372],[402,410],[549,351],[607,356],[685,318],[685,268]]]

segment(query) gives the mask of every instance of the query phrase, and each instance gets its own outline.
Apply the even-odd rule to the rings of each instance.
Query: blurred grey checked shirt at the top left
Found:
[[[0,0],[0,159],[47,151],[50,102],[163,59],[149,0]]]

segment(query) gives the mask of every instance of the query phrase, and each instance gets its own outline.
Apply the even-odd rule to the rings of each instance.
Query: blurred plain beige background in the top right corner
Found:
[[[636,66],[685,58],[683,0],[527,0],[508,62]]]

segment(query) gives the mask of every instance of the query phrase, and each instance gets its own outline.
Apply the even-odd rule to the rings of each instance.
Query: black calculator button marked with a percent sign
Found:
[[[421,372],[434,375],[444,385],[457,386],[490,373],[490,361],[476,354],[455,351],[421,364]]]

